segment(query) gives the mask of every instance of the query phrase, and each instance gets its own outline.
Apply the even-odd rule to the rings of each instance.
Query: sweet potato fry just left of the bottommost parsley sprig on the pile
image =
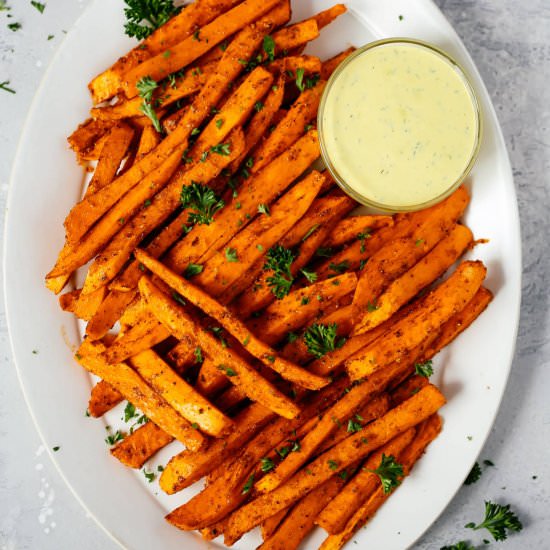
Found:
[[[382,455],[397,459],[415,433],[415,428],[409,428],[370,455],[359,472],[319,514],[315,523],[331,535],[342,531],[355,511],[380,487],[380,478],[372,470],[378,468]]]

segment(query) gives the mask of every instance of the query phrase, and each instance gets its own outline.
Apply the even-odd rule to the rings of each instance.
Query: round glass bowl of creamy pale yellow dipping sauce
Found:
[[[474,92],[443,52],[395,39],[358,50],[331,77],[319,110],[321,150],[363,204],[403,211],[445,198],[480,141]]]

